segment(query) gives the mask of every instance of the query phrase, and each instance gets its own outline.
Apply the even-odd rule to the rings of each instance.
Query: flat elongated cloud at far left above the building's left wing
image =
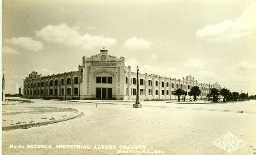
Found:
[[[4,41],[13,45],[25,47],[35,52],[43,49],[43,44],[40,41],[33,40],[33,38],[30,37],[12,37],[11,39],[5,39]]]

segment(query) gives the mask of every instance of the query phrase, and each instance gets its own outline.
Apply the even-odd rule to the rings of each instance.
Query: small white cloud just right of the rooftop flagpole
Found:
[[[146,41],[145,39],[137,39],[137,37],[133,37],[131,39],[127,39],[125,41],[124,47],[129,49],[145,49],[149,48],[151,45],[150,40]]]

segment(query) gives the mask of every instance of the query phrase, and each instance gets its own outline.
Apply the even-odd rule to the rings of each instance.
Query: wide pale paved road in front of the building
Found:
[[[145,146],[146,152],[159,149],[173,155],[227,154],[212,144],[227,132],[246,142],[232,154],[256,152],[254,100],[221,105],[142,101],[143,108],[132,108],[133,102],[99,103],[96,107],[95,103],[33,101],[35,103],[8,106],[74,108],[83,115],[55,124],[2,131],[2,154],[123,154],[118,153],[119,148],[123,151],[142,150],[124,149],[125,146]],[[239,112],[242,110],[243,113]],[[24,148],[10,148],[10,145]],[[28,148],[34,145],[51,145],[51,148]],[[69,149],[59,149],[56,145]],[[77,148],[75,145],[89,145],[90,149],[74,149]],[[95,145],[100,146],[94,149]],[[108,148],[116,146],[116,149],[99,149],[106,145]]]

